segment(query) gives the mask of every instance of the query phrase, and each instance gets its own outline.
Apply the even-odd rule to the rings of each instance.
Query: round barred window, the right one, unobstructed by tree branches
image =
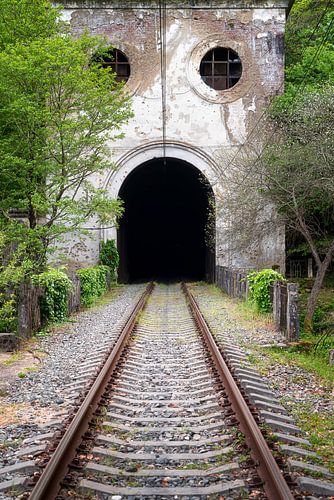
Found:
[[[240,57],[224,47],[209,50],[200,65],[202,80],[215,90],[230,89],[240,80],[241,73]]]

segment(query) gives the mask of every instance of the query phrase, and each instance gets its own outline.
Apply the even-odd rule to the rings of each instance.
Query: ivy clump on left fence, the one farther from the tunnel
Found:
[[[64,321],[68,312],[68,297],[73,288],[72,281],[58,269],[50,269],[32,276],[32,282],[45,288],[41,309],[48,321]]]

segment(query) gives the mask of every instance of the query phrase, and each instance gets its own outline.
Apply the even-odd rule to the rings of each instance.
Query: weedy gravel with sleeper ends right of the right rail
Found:
[[[328,448],[333,416],[331,389],[292,360],[277,362],[268,356],[269,347],[287,347],[284,337],[269,322],[265,325],[260,320],[245,320],[236,303],[213,286],[194,284],[191,290],[235,378],[275,440],[276,449],[285,457],[285,470],[290,471],[305,498],[307,494],[334,497],[333,475],[323,467],[330,466],[332,456]],[[307,420],[313,422],[309,431],[308,425],[303,430],[306,411]],[[321,423],[324,420],[327,427]]]

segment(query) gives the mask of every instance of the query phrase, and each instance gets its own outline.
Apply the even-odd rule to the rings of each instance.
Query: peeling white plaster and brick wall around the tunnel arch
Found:
[[[173,5],[181,3],[184,8]],[[235,150],[244,142],[259,118],[263,107],[283,85],[284,1],[270,4],[258,0],[252,7],[242,2],[167,2],[167,123],[168,144],[175,144],[191,163],[191,148],[208,159],[205,170],[212,185],[215,182],[213,158],[217,152]],[[63,18],[74,36],[84,30],[105,36],[129,58],[131,76],[126,85],[133,96],[134,119],[123,129],[125,137],[110,144],[113,161],[119,165],[114,175],[96,178],[100,186],[108,186],[115,196],[129,173],[124,158],[131,155],[132,166],[141,162],[141,152],[162,141],[162,104],[160,76],[159,10],[155,2],[63,2]],[[153,6],[152,6],[153,5]],[[206,6],[206,7],[205,7]],[[243,74],[232,89],[217,92],[208,87],[199,75],[205,53],[215,46],[230,47],[242,61]],[[181,147],[182,146],[182,147]],[[161,148],[160,148],[161,149]],[[137,155],[138,152],[138,155]],[[154,154],[158,154],[155,152]],[[136,159],[137,158],[137,159]],[[185,158],[185,159],[186,159]],[[224,168],[224,166],[222,166]],[[213,186],[213,189],[215,187]],[[252,267],[246,257],[231,259],[226,242],[219,240],[217,221],[217,263],[236,267]],[[69,242],[69,253],[86,265],[96,262],[98,241],[113,232],[94,232],[78,247]],[[258,265],[280,265],[284,268],[284,234],[278,228],[263,243]]]

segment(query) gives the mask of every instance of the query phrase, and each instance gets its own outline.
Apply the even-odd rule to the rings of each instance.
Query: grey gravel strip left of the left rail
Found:
[[[116,338],[144,289],[145,285],[121,288],[106,305],[78,313],[72,318],[73,323],[37,341],[34,352],[41,357],[36,371],[27,371],[24,378],[17,377],[9,395],[1,398],[2,408],[13,408],[19,423],[8,425],[3,421],[0,427],[0,467],[17,462],[22,446],[30,448],[29,456],[38,455],[38,451],[31,450],[41,444],[37,436],[52,435],[73,404],[68,385],[84,369],[89,356],[99,348],[101,352],[108,350],[108,341]]]

